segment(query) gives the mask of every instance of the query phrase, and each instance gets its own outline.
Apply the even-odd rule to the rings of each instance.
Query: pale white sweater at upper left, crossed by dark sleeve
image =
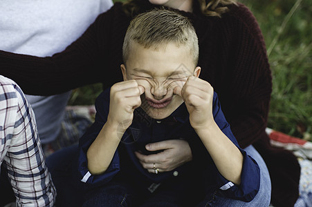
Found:
[[[0,0],[0,50],[51,56],[80,37],[112,5],[111,0]],[[57,137],[69,96],[70,92],[26,96],[35,111],[42,143]]]

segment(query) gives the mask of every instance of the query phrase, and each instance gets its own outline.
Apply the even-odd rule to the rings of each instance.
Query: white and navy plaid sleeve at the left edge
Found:
[[[35,115],[19,86],[0,76],[0,164],[8,170],[17,206],[54,206]]]

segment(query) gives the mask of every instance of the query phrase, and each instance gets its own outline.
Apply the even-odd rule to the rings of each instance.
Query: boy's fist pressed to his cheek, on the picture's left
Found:
[[[140,95],[145,92],[136,80],[122,81],[111,87],[107,123],[118,126],[119,132],[131,125],[134,109],[141,105]]]

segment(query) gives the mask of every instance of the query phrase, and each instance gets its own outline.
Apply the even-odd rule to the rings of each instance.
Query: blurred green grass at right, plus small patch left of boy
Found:
[[[312,140],[312,1],[241,0],[255,15],[273,76],[268,127]],[[73,91],[71,105],[90,105],[100,84]]]

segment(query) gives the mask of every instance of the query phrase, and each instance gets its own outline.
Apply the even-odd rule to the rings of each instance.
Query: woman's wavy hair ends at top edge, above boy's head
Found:
[[[221,17],[221,14],[228,12],[229,7],[237,5],[237,0],[193,0],[194,10],[208,17]],[[127,0],[122,9],[129,16],[134,16],[140,10],[150,6],[147,0]]]

